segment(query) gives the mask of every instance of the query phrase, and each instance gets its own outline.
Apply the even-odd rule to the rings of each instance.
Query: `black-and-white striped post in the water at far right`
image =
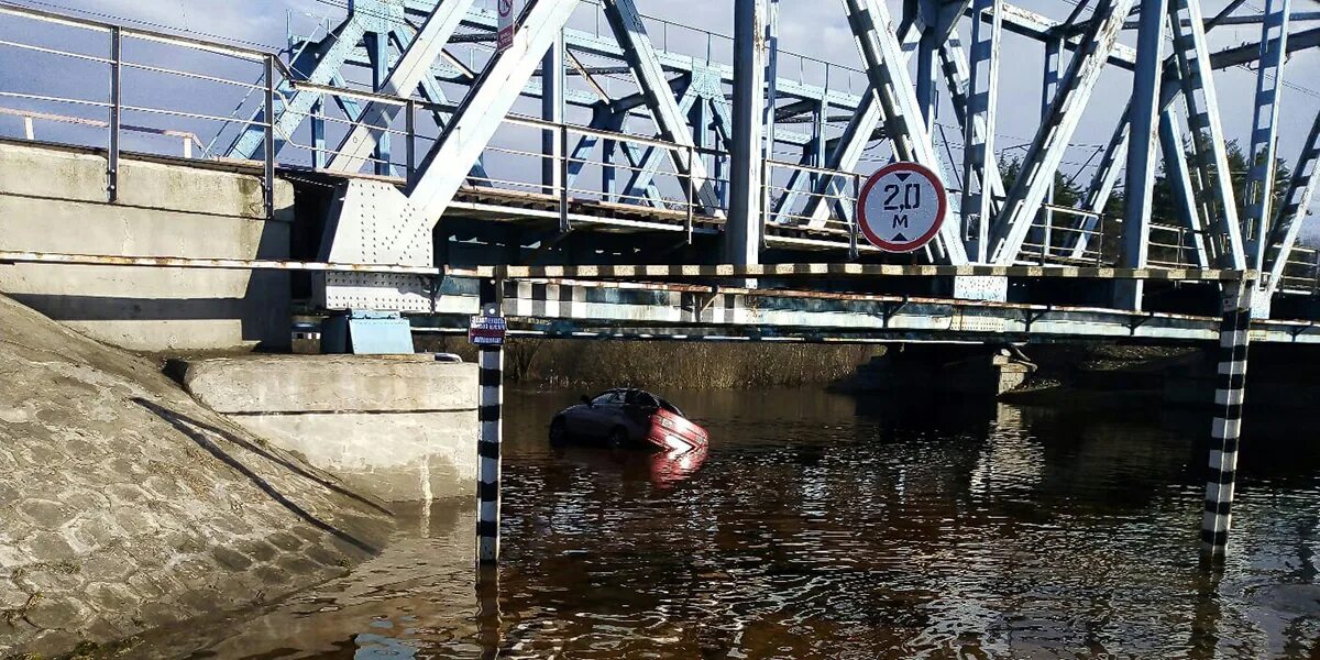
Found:
[[[1233,487],[1237,479],[1238,437],[1246,392],[1246,350],[1251,330],[1251,293],[1255,282],[1226,282],[1224,319],[1220,325],[1218,376],[1214,380],[1214,428],[1210,432],[1210,466],[1205,486],[1205,517],[1201,521],[1201,553],[1224,557],[1233,521]]]

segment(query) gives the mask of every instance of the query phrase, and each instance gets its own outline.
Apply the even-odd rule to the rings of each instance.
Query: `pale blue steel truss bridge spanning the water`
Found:
[[[256,168],[268,193],[284,177],[306,193],[300,203],[319,195],[323,234],[300,261],[174,265],[310,271],[323,309],[466,314],[465,277],[498,272],[510,313],[558,321],[549,334],[1209,339],[1222,282],[1241,281],[1269,329],[1259,339],[1320,335],[1320,252],[1298,246],[1320,181],[1320,116],[1305,117],[1304,144],[1279,140],[1286,63],[1320,44],[1320,11],[1308,11],[1320,5],[1078,0],[1047,17],[999,0],[890,4],[822,3],[851,28],[865,66],[850,69],[781,51],[777,0],[735,0],[731,37],[649,18],[634,0],[527,0],[503,51],[494,12],[474,0],[351,0],[342,22],[290,34],[281,53],[0,3],[7,61],[86,66],[110,91],[0,90],[20,106],[0,112],[29,139],[62,123],[73,128],[59,141],[107,145],[111,199],[125,144],[158,152],[180,139],[193,160]],[[1213,50],[1222,25],[1261,38]],[[671,49],[671,33],[705,54]],[[1045,55],[1040,127],[1014,181],[995,140],[1010,38]],[[711,57],[721,50],[731,65]],[[1247,91],[1217,88],[1216,71],[1242,65],[1255,86],[1238,187],[1217,99]],[[1131,98],[1081,199],[1053,203],[1110,69],[1130,71]],[[961,157],[935,121],[940,103]],[[949,183],[950,216],[921,253],[858,238],[853,209],[876,153]],[[1171,218],[1152,214],[1160,164]],[[1106,216],[1119,186],[1125,211]],[[731,271],[675,281],[627,271],[638,264]],[[569,271],[535,275],[554,265]],[[598,265],[615,269],[583,275]]]

